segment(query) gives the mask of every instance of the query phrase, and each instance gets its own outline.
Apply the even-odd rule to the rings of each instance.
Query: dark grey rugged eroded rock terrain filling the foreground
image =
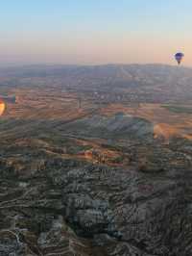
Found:
[[[30,175],[1,161],[1,255],[192,253],[190,169],[164,163],[146,173],[48,156],[35,167],[33,154]]]

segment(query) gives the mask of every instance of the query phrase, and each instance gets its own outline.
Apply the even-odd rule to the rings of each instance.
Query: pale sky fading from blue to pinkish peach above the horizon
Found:
[[[191,0],[4,0],[1,64],[192,65]]]

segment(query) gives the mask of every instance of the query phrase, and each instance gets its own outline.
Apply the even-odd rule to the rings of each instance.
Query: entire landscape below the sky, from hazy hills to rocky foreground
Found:
[[[190,68],[1,68],[0,94],[0,255],[192,255]]]

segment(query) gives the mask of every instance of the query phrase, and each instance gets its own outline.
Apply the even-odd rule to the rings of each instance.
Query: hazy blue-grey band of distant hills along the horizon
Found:
[[[0,85],[48,86],[54,81],[55,86],[80,92],[136,94],[142,102],[163,103],[192,98],[192,69],[163,64],[1,67],[0,78]]]

